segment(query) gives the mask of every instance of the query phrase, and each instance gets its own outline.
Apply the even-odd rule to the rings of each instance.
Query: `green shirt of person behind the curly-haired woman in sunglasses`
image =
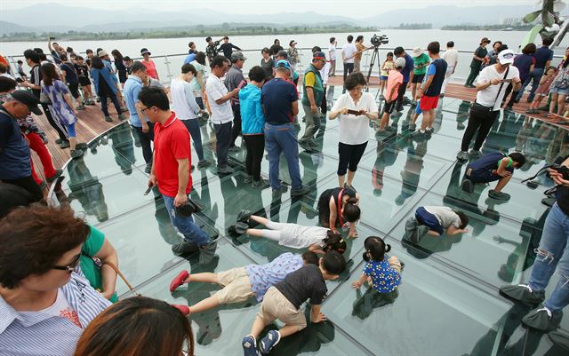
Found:
[[[95,227],[89,225],[89,236],[87,236],[87,241],[83,244],[81,248],[81,271],[85,275],[89,284],[93,289],[100,289],[102,290],[103,287],[103,279],[100,274],[100,268],[98,265],[95,264],[93,261],[92,256],[95,256],[100,249],[103,247],[103,243],[105,242],[105,234],[97,230]],[[110,298],[110,301],[115,303],[118,300],[118,297],[113,294],[113,297]]]

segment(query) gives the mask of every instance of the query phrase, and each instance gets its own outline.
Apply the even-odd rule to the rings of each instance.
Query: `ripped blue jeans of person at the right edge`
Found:
[[[561,311],[569,305],[569,217],[559,208],[557,202],[549,211],[543,226],[540,247],[533,263],[529,286],[533,290],[544,290],[558,266],[560,279],[545,306],[552,312]]]

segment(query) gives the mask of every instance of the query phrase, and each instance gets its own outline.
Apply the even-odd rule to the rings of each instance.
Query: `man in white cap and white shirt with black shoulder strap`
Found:
[[[501,51],[496,64],[485,67],[478,75],[477,100],[470,107],[469,125],[462,137],[461,151],[456,155],[459,161],[469,160],[470,141],[476,131],[478,131],[477,139],[470,154],[480,155],[480,147],[500,114],[501,100],[509,83],[512,83],[513,91],[518,91],[522,87],[519,71],[517,67],[511,65],[515,56],[514,51]]]

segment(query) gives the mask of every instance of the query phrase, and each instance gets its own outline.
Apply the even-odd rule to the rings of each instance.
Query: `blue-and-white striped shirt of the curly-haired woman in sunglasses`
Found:
[[[71,280],[61,291],[77,312],[82,328],[62,316],[18,312],[0,297],[0,355],[73,355],[83,329],[111,303],[77,273],[71,273]]]

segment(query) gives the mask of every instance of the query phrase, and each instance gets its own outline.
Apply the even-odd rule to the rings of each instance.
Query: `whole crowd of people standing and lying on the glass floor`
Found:
[[[337,280],[346,270],[346,241],[358,237],[362,211],[354,178],[370,127],[383,139],[391,137],[394,133],[389,121],[403,111],[405,93],[410,89],[413,123],[409,131],[414,140],[429,140],[439,99],[445,96],[446,85],[458,66],[453,42],[448,42],[442,53],[438,42],[429,43],[426,51],[413,48],[410,54],[398,46],[381,64],[378,103],[365,91],[367,81],[361,73],[362,53],[373,46],[366,47],[363,36],[357,36],[355,43],[351,35],[346,40],[341,47],[344,92],[328,113],[326,86],[329,76],[335,75],[338,57],[334,37],[327,53],[321,47],[312,48],[310,64],[302,75],[296,72],[299,52],[294,40],[288,50],[277,39],[270,48],[263,48],[260,65],[251,67],[246,75],[243,67],[247,58],[228,42],[228,36],[220,41],[207,37],[205,51],[197,51],[196,44],[190,42],[180,73],[167,88],[160,83],[147,48],[140,50],[140,60],[124,57],[117,50],[111,51],[111,60],[100,48],[85,51],[84,59],[51,40],[51,59],[39,48],[25,51],[29,75],[22,63],[14,74],[17,80],[7,70],[0,75],[0,353],[102,356],[151,350],[148,354],[191,355],[194,336],[186,316],[250,298],[260,306],[250,333],[242,340],[245,356],[266,354],[284,337],[301,332],[308,322],[326,320],[321,310],[326,281]],[[539,49],[528,44],[518,55],[501,42],[488,52],[488,44],[488,38],[481,40],[470,64],[465,86],[476,88],[477,99],[469,109],[457,160],[469,162],[461,183],[466,194],[471,194],[476,185],[495,181],[488,197],[506,202],[510,195],[503,189],[514,170],[524,166],[525,155],[482,154],[480,149],[501,108],[508,109],[522,99],[530,83],[529,110],[536,110],[550,95],[549,111],[553,114],[557,107],[557,115],[564,115],[569,94],[565,62],[569,61],[551,67],[549,40],[544,40]],[[209,75],[205,67],[210,68]],[[200,125],[206,121],[212,125],[217,174],[233,174],[235,168],[228,153],[246,150],[245,182],[255,189],[270,187],[275,199],[287,191],[279,178],[282,154],[291,178],[290,195],[301,196],[315,189],[302,183],[299,150],[320,150],[316,134],[322,120],[338,120],[338,184],[320,195],[317,226],[278,223],[244,210],[229,228],[234,235],[276,241],[304,249],[303,253],[287,252],[266,265],[246,265],[219,273],[181,271],[171,282],[171,292],[196,282],[222,288],[194,305],[168,305],[148,297],[118,301],[116,250],[104,233],[77,218],[67,205],[46,206],[47,186],[37,177],[30,155],[30,148],[39,155],[48,183],[59,178],[62,171],[53,167],[44,132],[35,120],[43,120],[44,115],[57,131],[60,147],[70,148],[72,159],[81,159],[87,145],[77,140],[79,111],[95,105],[96,100],[106,121],[113,120],[108,101],[119,120],[125,120],[123,113],[128,112],[146,162],[148,189],[157,188],[172,225],[183,235],[172,246],[172,253],[180,257],[197,254],[200,259],[212,256],[219,239],[218,232],[206,233],[196,224],[193,214],[200,207],[188,197],[192,171],[213,164],[204,156]],[[300,107],[306,127],[299,138]],[[417,128],[421,115],[421,127]],[[244,145],[237,146],[240,136]],[[198,157],[196,167],[192,165],[192,142]],[[260,172],[265,151],[268,180]],[[561,163],[569,167],[569,159]],[[503,296],[529,305],[545,301],[524,319],[526,326],[538,330],[557,328],[561,311],[569,304],[569,253],[564,254],[569,236],[565,231],[569,170],[567,174],[549,170],[549,176],[558,185],[557,202],[549,211],[529,284],[501,289]],[[418,243],[423,238],[468,233],[468,225],[468,215],[463,211],[419,207],[405,223],[404,238]],[[348,230],[345,238],[344,229]],[[403,280],[405,263],[388,255],[390,246],[379,236],[365,237],[364,247],[364,268],[352,287],[368,284],[375,293],[394,293]],[[562,278],[545,300],[544,290],[557,267]],[[301,308],[307,301],[311,305],[309,320]],[[275,320],[281,320],[284,327],[271,329],[260,338],[263,329]],[[61,337],[55,341],[53,335]]]

